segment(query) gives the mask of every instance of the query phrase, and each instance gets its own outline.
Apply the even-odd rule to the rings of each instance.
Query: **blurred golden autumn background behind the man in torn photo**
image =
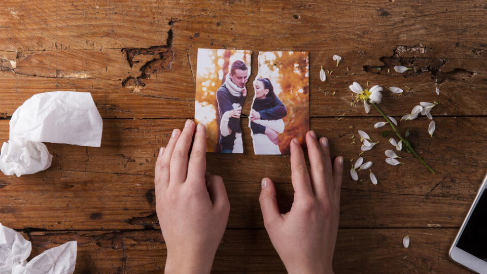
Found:
[[[194,118],[206,126],[207,152],[221,152],[217,90],[236,60],[247,64],[250,76],[251,54],[250,50],[198,49]]]

